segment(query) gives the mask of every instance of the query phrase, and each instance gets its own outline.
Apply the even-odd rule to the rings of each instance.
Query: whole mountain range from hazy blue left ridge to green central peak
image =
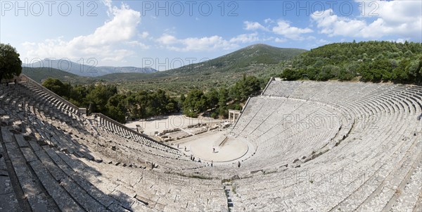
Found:
[[[87,65],[82,66],[79,63],[68,63],[68,61],[43,61],[42,63],[51,64],[48,67],[53,68],[45,68],[47,72],[33,76],[37,79],[56,77],[72,83],[103,81],[115,83],[120,89],[126,91],[163,89],[171,95],[178,95],[186,94],[194,88],[206,90],[211,87],[229,86],[240,79],[243,74],[264,78],[278,75],[281,71],[279,69],[280,63],[306,51],[305,49],[285,49],[255,44],[202,63],[194,63],[165,71],[145,68],[143,69],[144,72],[142,70],[136,72],[134,71],[136,69],[130,67],[104,68],[104,66],[94,66],[94,68],[90,68]],[[58,69],[67,70],[67,72]],[[71,75],[71,73],[74,75]],[[79,78],[80,75],[89,77]]]

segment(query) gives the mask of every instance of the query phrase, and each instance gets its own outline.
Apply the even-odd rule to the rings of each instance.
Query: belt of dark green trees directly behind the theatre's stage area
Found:
[[[257,77],[243,75],[231,87],[212,88],[209,92],[192,89],[186,96],[181,94],[179,98],[170,96],[162,89],[122,92],[115,85],[102,82],[70,85],[48,78],[42,85],[72,104],[88,108],[90,113],[103,113],[125,123],[128,119],[150,118],[181,110],[189,117],[197,117],[204,112],[209,112],[213,118],[227,117],[228,109],[241,109],[241,102],[252,94],[258,94],[264,82]]]

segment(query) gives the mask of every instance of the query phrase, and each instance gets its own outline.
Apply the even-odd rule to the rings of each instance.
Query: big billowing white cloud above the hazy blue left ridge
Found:
[[[111,7],[110,1],[103,1],[111,12],[111,19],[90,35],[82,35],[63,40],[63,37],[46,39],[41,43],[25,42],[29,58],[97,58],[98,61],[118,61],[133,51],[121,49],[122,43],[128,44],[136,35],[136,26],[141,21],[141,13],[122,4],[120,8]],[[130,44],[130,42],[129,42]],[[134,44],[134,43],[132,43]],[[145,47],[145,46],[144,46]]]

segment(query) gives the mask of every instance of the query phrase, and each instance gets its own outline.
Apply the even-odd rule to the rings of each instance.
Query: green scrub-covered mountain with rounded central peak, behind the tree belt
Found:
[[[171,95],[186,94],[191,89],[207,90],[230,86],[242,75],[267,78],[278,75],[279,64],[306,52],[265,44],[247,46],[218,58],[156,73],[115,73],[97,77],[115,82],[127,91],[163,89]]]

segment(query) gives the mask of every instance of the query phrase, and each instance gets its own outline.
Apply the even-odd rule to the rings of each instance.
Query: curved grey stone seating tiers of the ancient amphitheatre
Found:
[[[32,83],[0,85],[2,211],[422,209],[419,86],[271,80],[231,127],[250,144],[235,168],[81,116]]]

